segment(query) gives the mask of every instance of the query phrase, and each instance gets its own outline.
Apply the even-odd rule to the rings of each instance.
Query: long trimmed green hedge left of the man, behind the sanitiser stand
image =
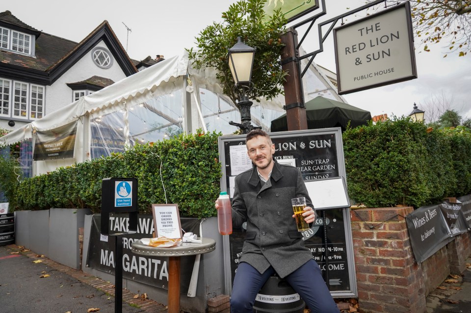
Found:
[[[177,203],[181,216],[215,216],[221,177],[218,136],[198,133],[137,144],[124,153],[25,179],[17,188],[16,209],[86,207],[99,213],[102,179],[135,177],[139,213],[151,213],[153,203]]]

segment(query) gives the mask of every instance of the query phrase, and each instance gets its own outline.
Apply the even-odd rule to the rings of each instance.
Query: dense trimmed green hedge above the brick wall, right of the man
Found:
[[[399,118],[347,129],[343,148],[349,196],[367,207],[418,208],[471,193],[469,131]]]

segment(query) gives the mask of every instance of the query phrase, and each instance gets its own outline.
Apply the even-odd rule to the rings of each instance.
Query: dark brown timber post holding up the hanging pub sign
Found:
[[[285,87],[286,119],[288,130],[308,129],[304,106],[303,82],[299,67],[299,50],[296,48],[297,32],[292,28],[281,37],[285,47],[281,51],[282,69],[288,72]]]

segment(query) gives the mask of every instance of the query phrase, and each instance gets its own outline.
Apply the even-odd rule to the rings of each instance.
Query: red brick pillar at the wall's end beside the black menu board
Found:
[[[360,312],[425,312],[422,269],[413,260],[403,218],[412,210],[351,212]]]

